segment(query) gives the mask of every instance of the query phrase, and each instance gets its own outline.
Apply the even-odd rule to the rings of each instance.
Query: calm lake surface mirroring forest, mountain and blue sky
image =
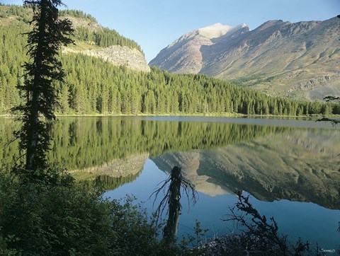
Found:
[[[5,146],[16,123],[0,119],[0,168],[19,156]],[[261,214],[273,216],[288,238],[336,249],[340,233],[340,129],[314,120],[222,117],[61,117],[52,128],[50,163],[61,163],[79,180],[102,182],[106,196],[134,194],[152,212],[150,194],[175,165],[195,185],[199,199],[183,198],[179,235],[195,220],[207,237],[225,235],[222,221],[251,194]],[[0,151],[0,152],[1,152]]]

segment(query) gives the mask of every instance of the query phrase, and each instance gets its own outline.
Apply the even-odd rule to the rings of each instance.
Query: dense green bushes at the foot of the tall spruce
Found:
[[[0,172],[0,255],[186,253],[165,247],[161,226],[131,197],[103,199],[98,187],[78,184],[53,168],[31,175],[17,170],[25,172]]]

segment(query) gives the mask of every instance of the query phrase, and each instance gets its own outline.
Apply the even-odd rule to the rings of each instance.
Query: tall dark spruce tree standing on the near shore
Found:
[[[16,107],[23,115],[23,125],[17,132],[21,138],[21,149],[26,150],[26,169],[37,170],[46,166],[45,154],[50,145],[48,123],[55,120],[54,109],[57,93],[53,81],[62,82],[64,72],[57,58],[62,45],[72,42],[72,24],[58,18],[57,7],[61,0],[24,1],[33,8],[33,29],[28,35],[30,61],[24,64],[26,73],[23,85],[19,85],[26,103]]]

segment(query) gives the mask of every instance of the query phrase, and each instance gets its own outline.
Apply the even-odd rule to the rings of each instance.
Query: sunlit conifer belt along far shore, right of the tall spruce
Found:
[[[136,72],[81,54],[62,57],[60,112],[100,114],[310,115],[340,112],[339,105],[273,98],[204,75]]]

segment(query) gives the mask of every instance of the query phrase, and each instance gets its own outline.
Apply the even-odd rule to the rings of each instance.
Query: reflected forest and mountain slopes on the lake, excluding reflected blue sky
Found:
[[[11,168],[19,156],[17,141],[5,146],[16,125],[12,119],[0,122],[2,169]],[[151,158],[165,172],[182,166],[186,178],[205,194],[245,190],[262,201],[289,199],[340,209],[340,134],[320,125],[202,117],[68,117],[52,128],[48,157],[79,180],[102,180],[107,189],[137,178]],[[96,178],[99,175],[103,177]]]

